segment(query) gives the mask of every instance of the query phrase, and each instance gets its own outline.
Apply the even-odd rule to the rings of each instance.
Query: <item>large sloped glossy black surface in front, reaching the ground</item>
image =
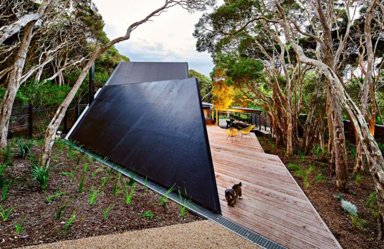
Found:
[[[196,78],[103,86],[69,139],[220,213]]]

